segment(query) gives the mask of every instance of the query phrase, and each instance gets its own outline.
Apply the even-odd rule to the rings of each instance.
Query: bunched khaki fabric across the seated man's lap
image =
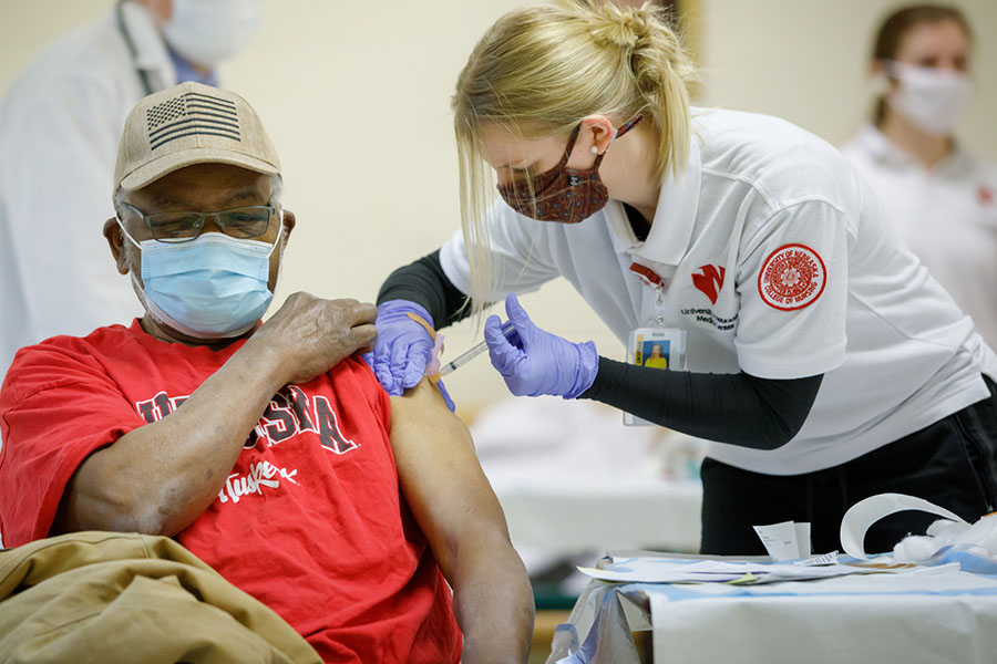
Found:
[[[76,532],[0,551],[0,662],[320,661],[169,538]]]

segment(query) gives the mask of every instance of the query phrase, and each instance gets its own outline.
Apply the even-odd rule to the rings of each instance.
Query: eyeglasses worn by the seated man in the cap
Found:
[[[270,219],[277,208],[273,205],[247,205],[218,212],[156,212],[146,215],[134,205],[123,203],[135,212],[160,242],[189,242],[196,240],[204,231],[205,220],[210,217],[225,235],[253,239],[267,234]]]

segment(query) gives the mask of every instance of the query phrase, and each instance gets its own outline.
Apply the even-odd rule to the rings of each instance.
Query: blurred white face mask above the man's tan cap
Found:
[[[163,37],[188,61],[215,69],[249,43],[259,17],[259,0],[173,0]]]

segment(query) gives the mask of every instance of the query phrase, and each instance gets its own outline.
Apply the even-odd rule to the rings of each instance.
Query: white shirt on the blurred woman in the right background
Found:
[[[997,166],[956,147],[931,169],[873,125],[842,147],[901,239],[997,345]]]

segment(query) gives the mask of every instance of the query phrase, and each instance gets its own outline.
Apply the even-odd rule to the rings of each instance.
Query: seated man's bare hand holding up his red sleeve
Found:
[[[378,336],[378,309],[351,299],[322,300],[292,293],[251,342],[280,353],[287,383],[304,383],[358,351],[367,351]]]

